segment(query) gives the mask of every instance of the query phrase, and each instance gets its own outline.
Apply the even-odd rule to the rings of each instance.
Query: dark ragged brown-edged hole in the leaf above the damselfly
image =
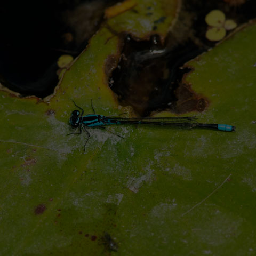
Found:
[[[140,116],[164,109],[177,114],[203,111],[204,99],[188,87],[180,86],[183,75],[190,71],[180,67],[202,51],[191,41],[169,49],[161,44],[157,35],[150,41],[136,41],[126,35],[121,59],[111,73],[109,86],[121,105],[132,106]]]

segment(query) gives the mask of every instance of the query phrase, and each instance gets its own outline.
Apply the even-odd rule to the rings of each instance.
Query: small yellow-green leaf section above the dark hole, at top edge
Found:
[[[151,35],[158,34],[164,41],[175,21],[181,1],[140,0],[131,2],[137,4],[122,15],[109,19],[107,21],[108,26],[116,34],[125,32],[136,39],[144,40],[149,39]]]

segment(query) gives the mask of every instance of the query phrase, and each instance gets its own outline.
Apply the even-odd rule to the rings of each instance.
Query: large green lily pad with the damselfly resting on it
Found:
[[[90,129],[84,152],[85,133],[66,136],[71,99],[86,114],[91,99],[96,113],[132,114],[108,87],[120,53],[106,27],[51,97],[0,91],[1,254],[253,255],[255,32],[188,62],[183,81],[208,102],[190,115],[235,133],[112,126],[125,139]]]

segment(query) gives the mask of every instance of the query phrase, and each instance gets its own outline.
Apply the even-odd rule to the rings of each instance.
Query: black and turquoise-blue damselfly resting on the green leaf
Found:
[[[193,128],[193,127],[200,127],[205,129],[214,129],[219,131],[226,131],[226,132],[234,132],[235,126],[228,125],[228,124],[203,124],[198,123],[195,116],[190,117],[135,117],[135,118],[125,118],[121,116],[102,116],[95,114],[94,108],[91,106],[94,114],[89,114],[84,116],[84,110],[77,106],[76,103],[73,101],[75,106],[82,110],[80,113],[79,110],[72,111],[71,117],[69,119],[70,125],[74,129],[79,129],[79,132],[71,132],[70,134],[81,134],[82,129],[87,134],[87,139],[85,141],[84,150],[87,141],[90,138],[90,133],[85,129],[85,127],[99,127],[102,129],[106,129],[105,125],[111,124],[151,124],[151,125],[162,125],[162,126],[175,126],[175,127],[183,127],[183,128]],[[108,130],[109,131],[109,130]],[[111,132],[111,131],[109,131]],[[113,133],[113,132],[111,132]],[[115,133],[114,133],[115,134]],[[123,138],[122,136],[115,134],[118,137]]]

